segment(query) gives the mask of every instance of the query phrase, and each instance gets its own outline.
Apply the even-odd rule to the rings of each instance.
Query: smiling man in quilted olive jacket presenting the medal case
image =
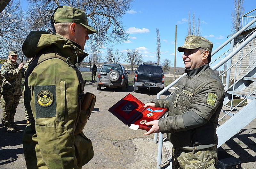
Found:
[[[156,99],[147,106],[169,108],[168,117],[150,121],[153,125],[144,135],[167,133],[172,147],[172,168],[214,169],[217,164],[216,128],[224,100],[220,78],[209,67],[212,42],[188,35],[182,59],[187,76],[182,77],[172,95]]]

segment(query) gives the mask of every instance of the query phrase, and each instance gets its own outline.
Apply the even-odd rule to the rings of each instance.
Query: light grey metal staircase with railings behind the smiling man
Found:
[[[228,49],[226,52],[224,52],[215,61],[211,63],[211,65],[213,65],[214,62],[218,62],[217,64],[212,66],[212,69],[219,72],[219,77],[220,79],[222,79],[222,83],[224,80],[224,76],[226,76],[226,84],[224,84],[225,99],[224,99],[223,105],[225,105],[225,107],[228,107],[229,109],[229,110],[222,110],[223,112],[222,114],[224,115],[220,117],[218,120],[219,124],[221,125],[219,125],[217,128],[217,135],[218,135],[218,142],[219,142],[217,147],[220,147],[223,143],[225,143],[234,135],[236,135],[236,133],[238,133],[241,129],[243,129],[247,124],[249,124],[251,121],[253,121],[256,118],[256,97],[255,97],[256,87],[255,85],[253,85],[255,84],[255,81],[256,81],[256,45],[255,45],[256,42],[254,42],[256,41],[256,29],[255,29],[256,12],[255,11],[256,9],[245,14],[243,16],[243,24],[245,25],[245,23],[246,24],[248,22],[249,23],[245,26],[243,25],[244,27],[240,31],[233,34],[228,40],[226,40],[222,45],[220,45],[220,47],[218,47],[212,52],[212,57],[213,55],[216,56],[216,53],[219,52],[220,49],[224,48],[228,43],[230,43],[230,49]],[[250,30],[251,33],[248,33],[248,35],[244,36],[242,40],[240,40],[239,42],[236,42],[236,45],[234,45],[235,38],[247,30]],[[245,48],[247,50],[244,50]],[[248,48],[250,48],[249,52],[248,52]],[[226,56],[226,57],[222,59],[223,56]],[[241,56],[241,57],[238,58],[238,56]],[[237,61],[232,65],[233,57]],[[223,71],[224,64],[228,64],[227,69],[225,71]],[[244,65],[246,65],[247,67],[244,68],[245,67]],[[232,79],[230,79],[231,71],[234,74],[232,75],[233,76]],[[175,85],[180,80],[180,78],[185,75],[186,73],[184,73],[174,82],[172,82],[170,85],[165,87],[164,90],[157,93],[157,99],[160,99],[160,96],[165,91],[167,91],[169,88]],[[230,81],[233,83],[230,84]],[[250,89],[248,89],[248,87]],[[236,103],[233,106],[233,101],[235,98],[239,98],[240,102],[238,104]],[[238,108],[244,102],[246,102],[247,105],[243,105],[243,107]],[[227,105],[228,103],[230,103],[230,106]],[[227,115],[231,115],[232,117],[229,118],[228,120],[222,121],[223,118],[226,117]],[[161,163],[162,149],[163,149],[163,134],[159,133],[158,137],[157,137],[157,134],[155,134],[154,143],[157,143],[157,138],[158,138],[157,168],[161,169],[161,165],[163,165],[165,162],[169,162],[170,166],[167,168],[171,168],[171,164],[172,164],[172,161],[170,160],[171,157],[167,157],[168,159],[164,163]],[[165,151],[166,150],[171,150],[171,149],[165,148]],[[169,154],[169,156],[171,156],[172,153],[167,152],[166,154]]]

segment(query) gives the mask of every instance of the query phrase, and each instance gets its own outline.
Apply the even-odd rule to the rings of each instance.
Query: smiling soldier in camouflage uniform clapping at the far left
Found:
[[[20,65],[16,62],[17,57],[18,53],[16,51],[10,51],[7,61],[4,62],[0,70],[3,81],[1,89],[1,104],[3,108],[2,123],[9,133],[20,129],[14,123],[14,115],[20,101],[20,84],[24,69],[23,62]]]

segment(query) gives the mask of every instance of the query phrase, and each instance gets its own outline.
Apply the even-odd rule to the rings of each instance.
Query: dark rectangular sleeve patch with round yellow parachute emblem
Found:
[[[56,117],[56,86],[35,86],[36,118]]]

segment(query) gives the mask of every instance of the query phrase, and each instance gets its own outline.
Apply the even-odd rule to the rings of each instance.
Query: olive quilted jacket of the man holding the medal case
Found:
[[[161,133],[183,150],[200,150],[218,144],[216,128],[224,100],[220,78],[205,64],[186,70],[171,96],[157,99],[156,107],[169,108],[159,120]]]

